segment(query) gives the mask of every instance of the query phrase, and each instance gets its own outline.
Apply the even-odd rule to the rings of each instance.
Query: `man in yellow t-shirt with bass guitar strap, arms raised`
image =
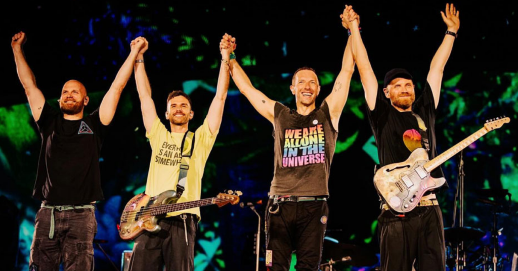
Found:
[[[146,194],[158,195],[167,190],[177,190],[182,163],[182,141],[189,131],[189,121],[193,118],[190,97],[183,91],[173,91],[167,97],[166,119],[171,132],[160,121],[151,98],[151,87],[146,74],[143,54],[148,49],[148,41],[135,62],[135,80],[140,98],[142,117],[149,138],[152,155],[149,166]],[[192,156],[186,175],[183,194],[178,202],[200,199],[205,163],[218,134],[223,106],[229,81],[230,49],[221,50],[222,61],[216,95],[212,100],[207,117],[194,135]],[[162,230],[158,234],[143,233],[135,239],[130,270],[194,270],[194,241],[196,224],[200,219],[199,208],[171,212],[159,220]]]

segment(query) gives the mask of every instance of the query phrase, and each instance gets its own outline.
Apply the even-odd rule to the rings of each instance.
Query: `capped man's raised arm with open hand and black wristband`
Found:
[[[444,23],[448,26],[448,31],[456,35],[461,24],[458,19],[458,10],[455,9],[453,4],[446,4],[446,10],[445,12],[441,11],[441,16]],[[430,72],[426,78],[428,84],[430,84],[431,92],[434,94],[436,108],[439,104],[444,66],[446,66],[446,62],[450,58],[454,41],[455,36],[448,34],[444,36],[439,50],[435,53],[434,59],[431,60]]]

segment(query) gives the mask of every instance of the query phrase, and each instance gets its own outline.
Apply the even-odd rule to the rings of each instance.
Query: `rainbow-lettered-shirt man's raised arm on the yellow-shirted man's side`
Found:
[[[231,42],[234,44],[233,47],[235,48],[235,38],[233,38],[233,40],[227,40],[225,38],[222,39],[220,47],[226,48],[231,46]],[[248,101],[250,101],[252,106],[261,114],[261,116],[274,124],[275,101],[266,97],[264,93],[254,88],[247,74],[244,73],[243,69],[235,59],[232,59],[229,63],[232,79],[234,80],[234,83],[236,83],[239,91],[247,97]]]

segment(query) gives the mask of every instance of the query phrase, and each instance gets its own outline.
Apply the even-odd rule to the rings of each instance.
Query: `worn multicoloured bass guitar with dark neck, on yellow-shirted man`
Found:
[[[240,191],[228,190],[226,194],[220,193],[216,197],[205,198],[199,201],[176,203],[178,197],[176,192],[168,190],[159,195],[150,197],[144,193],[134,196],[124,207],[121,222],[117,226],[119,236],[123,240],[135,239],[144,231],[156,233],[161,230],[157,224],[160,218],[164,218],[168,212],[176,212],[207,205],[218,205],[222,207],[228,203],[236,205],[239,203]]]

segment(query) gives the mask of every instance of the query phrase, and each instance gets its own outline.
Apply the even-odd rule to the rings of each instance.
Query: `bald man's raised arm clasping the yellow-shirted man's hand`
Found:
[[[126,83],[130,79],[139,50],[145,43],[144,39],[141,37],[135,39],[134,42],[135,45],[132,45],[130,55],[128,55],[126,61],[122,64],[122,67],[119,70],[119,73],[117,73],[115,80],[113,80],[110,89],[104,95],[103,101],[100,103],[99,118],[104,125],[110,124],[113,119],[115,111],[117,110],[117,105],[119,104],[122,90],[124,90]]]

